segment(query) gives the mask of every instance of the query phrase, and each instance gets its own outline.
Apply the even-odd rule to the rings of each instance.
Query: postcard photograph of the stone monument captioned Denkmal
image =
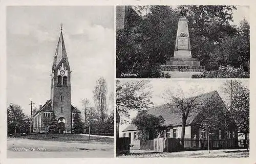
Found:
[[[249,78],[249,6],[116,6],[117,78]]]

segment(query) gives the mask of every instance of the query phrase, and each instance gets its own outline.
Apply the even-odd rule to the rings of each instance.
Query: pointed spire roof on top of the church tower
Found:
[[[59,35],[59,40],[58,40],[57,48],[54,55],[53,69],[59,64],[59,62],[62,59],[66,60],[66,62],[68,63],[68,56],[65,49],[63,35],[62,35],[62,24],[60,24],[60,35]]]

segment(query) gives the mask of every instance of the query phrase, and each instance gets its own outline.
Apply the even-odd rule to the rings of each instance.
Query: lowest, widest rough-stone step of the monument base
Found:
[[[204,72],[205,66],[191,65],[162,65],[161,71],[179,71],[179,72]]]

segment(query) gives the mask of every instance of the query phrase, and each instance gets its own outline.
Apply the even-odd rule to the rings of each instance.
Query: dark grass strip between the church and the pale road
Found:
[[[88,143],[88,142],[100,142],[114,144],[114,138],[84,136],[80,134],[29,134],[29,135],[17,135],[16,138],[34,139],[34,140],[54,140],[60,142],[75,142],[75,143]]]

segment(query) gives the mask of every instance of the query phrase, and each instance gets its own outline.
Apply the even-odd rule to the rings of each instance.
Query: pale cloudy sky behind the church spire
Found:
[[[30,114],[50,100],[51,68],[60,24],[71,67],[71,104],[92,105],[97,79],[114,91],[114,7],[7,7],[7,105],[20,105]]]

